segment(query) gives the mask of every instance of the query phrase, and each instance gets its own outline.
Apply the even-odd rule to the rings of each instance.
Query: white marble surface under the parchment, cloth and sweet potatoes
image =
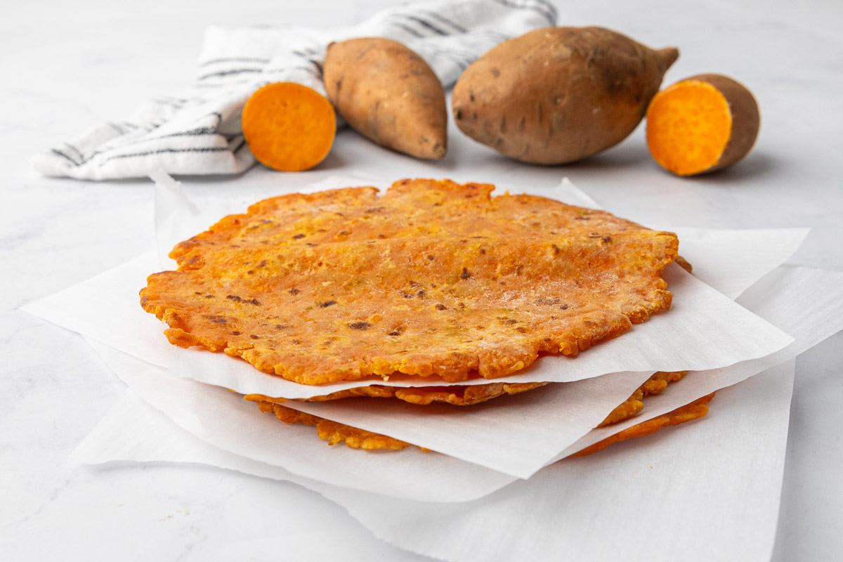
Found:
[[[583,163],[531,167],[459,131],[442,162],[388,153],[352,131],[305,174],[255,168],[233,179],[185,180],[189,193],[246,191],[338,171],[450,177],[513,185],[562,175],[640,222],[699,227],[813,227],[792,263],[843,270],[843,40],[835,1],[556,2],[560,24],[600,24],[650,45],[678,45],[671,83],[721,72],[754,90],[754,152],[722,174],[679,179],[652,163],[639,129]],[[635,5],[633,8],[632,5]],[[78,335],[17,308],[153,247],[152,185],[47,179],[29,166],[46,150],[190,79],[209,24],[344,24],[382,2],[16,3],[0,20],[0,559],[270,559],[287,537],[293,559],[414,559],[346,512],[293,484],[198,466],[78,468],[68,453],[122,392]],[[97,303],[91,302],[96,314]],[[843,552],[843,334],[797,361],[775,560]],[[220,537],[243,529],[243,550]],[[314,551],[307,545],[319,545]],[[341,547],[344,544],[346,546]],[[236,546],[236,545],[234,545]]]

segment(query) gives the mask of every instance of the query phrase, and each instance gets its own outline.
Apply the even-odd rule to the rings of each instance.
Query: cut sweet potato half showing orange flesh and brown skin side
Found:
[[[760,114],[732,78],[701,74],[656,94],[647,109],[647,146],[664,169],[687,176],[727,168],[749,153]]]

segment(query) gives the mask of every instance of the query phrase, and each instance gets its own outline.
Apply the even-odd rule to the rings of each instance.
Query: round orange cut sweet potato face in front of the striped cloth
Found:
[[[243,136],[260,163],[298,172],[328,156],[336,136],[336,115],[325,96],[312,88],[271,83],[246,102]]]

